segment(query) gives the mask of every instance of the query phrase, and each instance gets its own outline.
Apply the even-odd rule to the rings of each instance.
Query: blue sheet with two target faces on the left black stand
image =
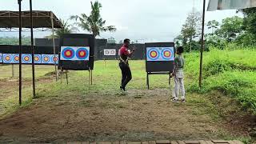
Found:
[[[90,47],[62,46],[61,60],[63,61],[88,61]]]

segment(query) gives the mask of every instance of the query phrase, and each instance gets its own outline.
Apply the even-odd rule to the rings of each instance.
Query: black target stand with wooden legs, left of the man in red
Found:
[[[94,42],[93,34],[64,34],[60,39],[58,70],[62,79],[66,70],[68,84],[68,70],[88,70],[89,86],[93,83],[94,70]]]

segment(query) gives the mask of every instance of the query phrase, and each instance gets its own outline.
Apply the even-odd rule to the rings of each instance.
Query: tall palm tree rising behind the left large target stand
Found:
[[[90,15],[86,14],[73,15],[70,19],[77,21],[75,24],[81,27],[83,30],[87,30],[90,33],[93,33],[94,36],[99,36],[102,31],[114,32],[116,28],[114,26],[105,26],[106,21],[102,19],[100,14],[100,8],[102,4],[98,1],[90,2],[91,12]],[[78,22],[79,21],[79,22]]]

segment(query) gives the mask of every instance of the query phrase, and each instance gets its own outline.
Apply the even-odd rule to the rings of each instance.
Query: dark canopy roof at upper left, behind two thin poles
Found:
[[[51,28],[51,18],[54,20],[54,28],[61,28],[62,22],[51,11],[33,10],[34,28]],[[18,11],[0,11],[0,28],[18,28]],[[22,27],[30,28],[30,11],[22,11]]]

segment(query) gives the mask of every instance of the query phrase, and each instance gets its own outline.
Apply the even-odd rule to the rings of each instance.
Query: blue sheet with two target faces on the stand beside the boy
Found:
[[[147,61],[174,61],[174,47],[147,47]]]

